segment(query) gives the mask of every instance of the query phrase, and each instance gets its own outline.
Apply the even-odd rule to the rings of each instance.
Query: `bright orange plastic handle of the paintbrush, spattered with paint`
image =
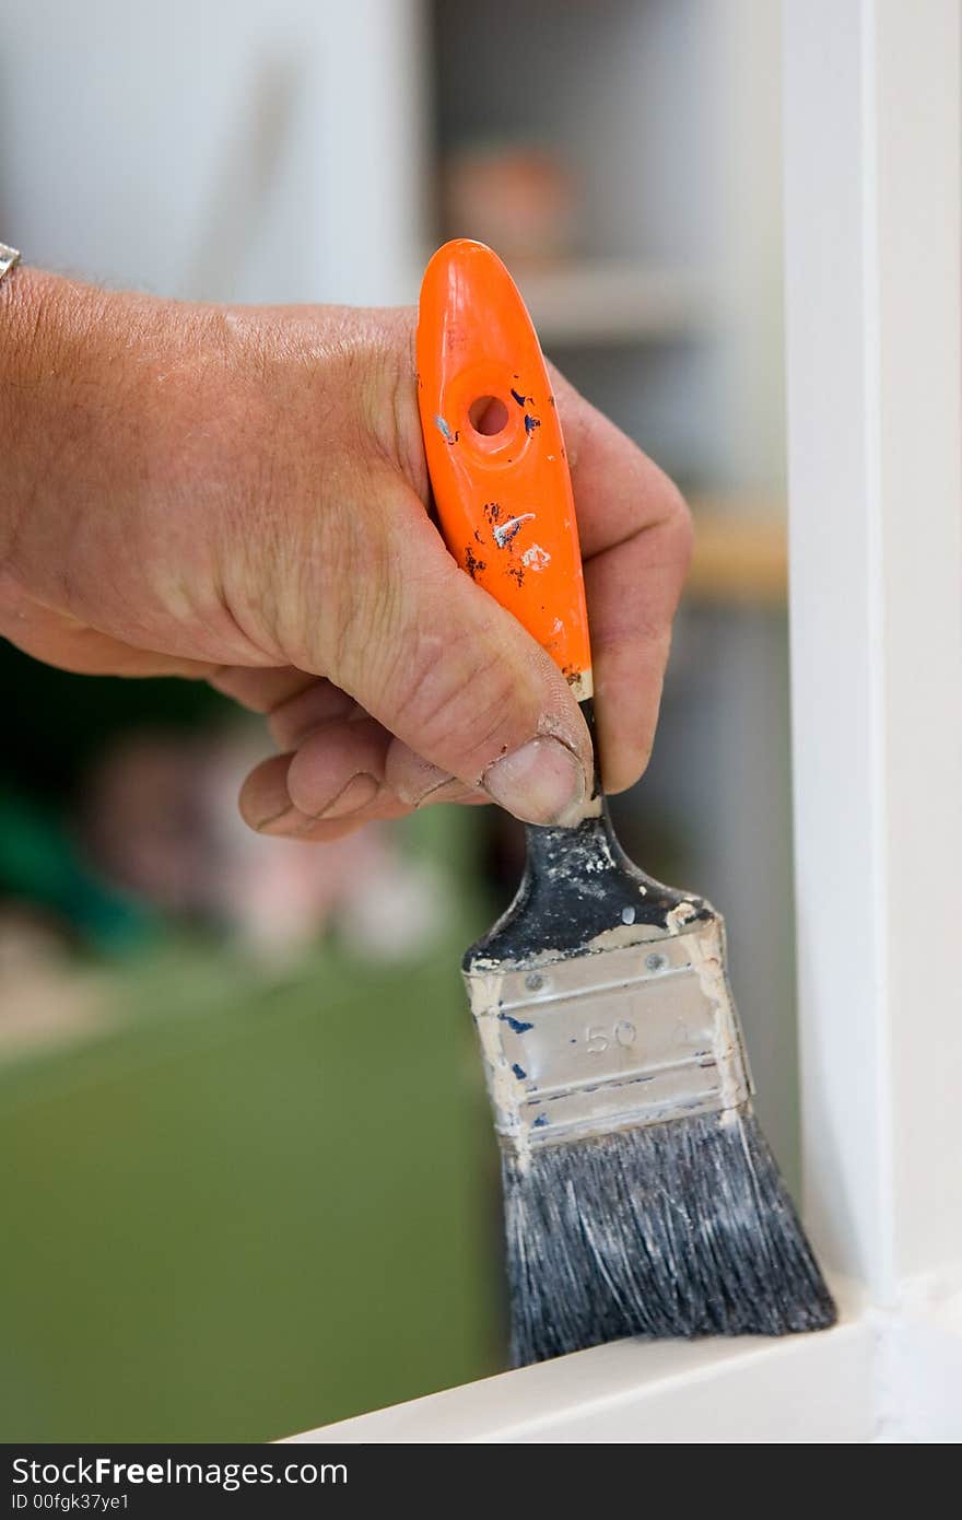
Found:
[[[591,696],[578,523],[544,357],[505,264],[467,237],[424,274],[418,403],[451,555],[547,649],[578,699]]]

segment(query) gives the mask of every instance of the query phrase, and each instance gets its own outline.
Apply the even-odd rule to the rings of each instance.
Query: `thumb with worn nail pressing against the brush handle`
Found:
[[[594,760],[565,678],[457,568],[397,476],[388,502],[380,553],[343,599],[331,670],[395,736],[384,780],[410,804],[456,778],[526,822],[576,822]]]

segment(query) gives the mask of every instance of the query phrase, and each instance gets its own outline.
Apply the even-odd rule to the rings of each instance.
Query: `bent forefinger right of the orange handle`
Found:
[[[602,778],[622,792],[650,757],[691,523],[667,476],[561,375],[555,383],[585,559]]]

